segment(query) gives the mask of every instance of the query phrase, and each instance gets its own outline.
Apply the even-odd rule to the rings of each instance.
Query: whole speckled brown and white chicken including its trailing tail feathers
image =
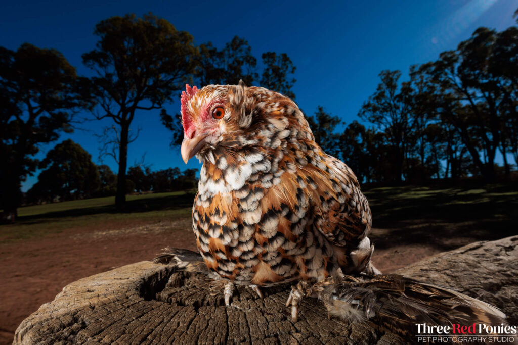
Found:
[[[201,272],[224,290],[293,282],[329,316],[415,340],[415,324],[507,324],[505,314],[448,288],[381,275],[370,262],[371,212],[354,173],[325,154],[295,102],[261,87],[186,86],[183,160],[203,161],[192,225],[199,253],[165,248],[155,262]],[[219,284],[218,284],[219,283]]]

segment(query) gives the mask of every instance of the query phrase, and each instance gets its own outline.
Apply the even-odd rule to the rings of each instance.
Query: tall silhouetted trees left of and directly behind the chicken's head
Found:
[[[248,85],[295,97],[291,91],[295,66],[290,57],[264,52],[259,70],[248,42],[237,36],[221,49],[211,42],[197,45],[191,34],[151,13],[102,20],[94,35],[98,38],[95,48],[82,54],[89,77],[78,76],[55,49],[30,43],[16,51],[0,47],[0,209],[4,219],[15,219],[22,201],[21,183],[39,165],[34,158],[39,146],[80,126],[76,115],[81,111],[93,119],[112,121],[99,138],[102,154],[113,156],[119,164],[116,205],[122,209],[125,194],[132,189],[126,173],[128,145],[138,136],[138,130],[130,128],[135,116],[155,110],[164,125],[177,133],[178,114],[167,114],[163,106],[177,100],[185,84],[193,82],[237,84],[242,79]]]

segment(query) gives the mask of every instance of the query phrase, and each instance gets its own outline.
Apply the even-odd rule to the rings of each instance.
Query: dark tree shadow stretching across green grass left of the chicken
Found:
[[[141,198],[135,200],[127,200],[123,211],[116,209],[114,204],[103,206],[91,206],[84,208],[73,208],[64,211],[47,212],[31,216],[20,216],[18,222],[24,224],[37,224],[46,222],[50,218],[79,217],[96,214],[125,214],[125,213],[142,213],[150,211],[166,211],[192,207],[195,193],[185,192],[182,194],[169,195],[164,197]]]

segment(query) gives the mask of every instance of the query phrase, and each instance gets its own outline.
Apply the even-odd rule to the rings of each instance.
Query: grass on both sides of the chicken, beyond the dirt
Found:
[[[465,241],[518,233],[518,187],[383,187],[365,192],[372,208],[378,248],[395,244],[436,245],[443,250]],[[67,201],[19,208],[17,223],[0,226],[0,243],[64,230],[122,229],[135,224],[190,217],[194,191],[127,197],[124,212],[114,198]],[[378,236],[378,237],[377,237]]]

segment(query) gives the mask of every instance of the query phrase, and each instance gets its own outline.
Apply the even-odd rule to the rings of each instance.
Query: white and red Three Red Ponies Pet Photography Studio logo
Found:
[[[447,326],[416,323],[415,326],[417,329],[415,337],[418,343],[518,343],[516,326],[503,323],[500,325],[454,323]]]

